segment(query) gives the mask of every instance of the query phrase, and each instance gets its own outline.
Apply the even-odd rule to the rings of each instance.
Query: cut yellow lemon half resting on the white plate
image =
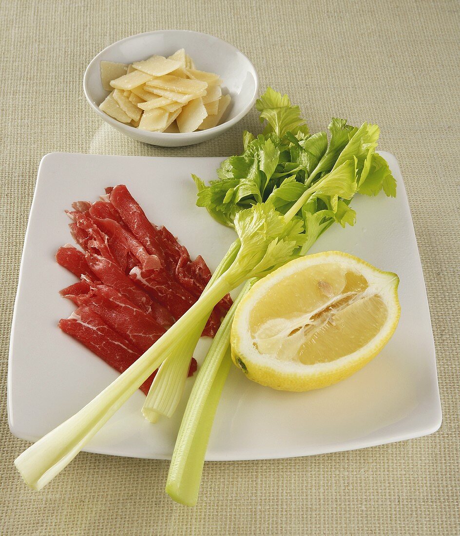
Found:
[[[398,284],[395,273],[340,251],[292,260],[258,281],[236,309],[233,362],[273,389],[337,383],[395,332]]]

